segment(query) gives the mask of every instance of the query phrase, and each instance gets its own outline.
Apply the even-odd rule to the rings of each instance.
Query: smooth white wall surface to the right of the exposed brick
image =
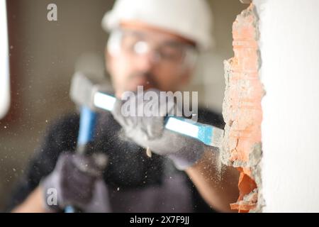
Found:
[[[255,0],[260,18],[264,199],[319,211],[319,1]]]

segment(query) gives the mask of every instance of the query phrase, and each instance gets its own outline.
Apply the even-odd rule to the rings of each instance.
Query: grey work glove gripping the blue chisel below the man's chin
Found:
[[[151,89],[147,92],[155,92],[159,97],[158,90]],[[157,105],[159,107],[157,116],[130,116],[123,113],[132,98],[135,99],[135,102],[133,102],[135,106],[130,106],[130,108],[135,108],[136,113],[138,111],[142,113],[142,110],[145,109],[144,106]],[[142,95],[135,94],[127,101],[117,99],[112,114],[122,126],[128,138],[143,148],[150,148],[157,155],[166,155],[174,162],[177,169],[185,170],[201,158],[204,145],[194,138],[164,128],[165,116],[181,113],[181,108],[174,105],[173,100],[169,99],[161,102],[160,99],[151,99],[144,101]],[[161,105],[167,105],[168,108],[161,109]]]

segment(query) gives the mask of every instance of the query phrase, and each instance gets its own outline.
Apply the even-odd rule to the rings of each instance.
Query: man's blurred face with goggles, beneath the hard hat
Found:
[[[121,48],[106,55],[116,96],[138,86],[175,92],[189,82],[193,65],[186,53],[194,47],[188,41],[135,23],[122,25],[119,33]]]

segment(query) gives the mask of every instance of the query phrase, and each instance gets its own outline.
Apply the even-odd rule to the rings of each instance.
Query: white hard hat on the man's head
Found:
[[[140,21],[193,40],[200,50],[213,45],[213,15],[206,0],[117,0],[102,20],[106,31],[122,21]]]

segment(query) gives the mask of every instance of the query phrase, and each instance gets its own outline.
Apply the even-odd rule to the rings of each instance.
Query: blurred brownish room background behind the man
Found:
[[[11,103],[0,120],[0,211],[47,125],[74,111],[69,85],[76,62],[81,64],[88,55],[103,62],[107,34],[101,29],[101,18],[113,6],[111,0],[6,2]],[[47,21],[50,3],[57,5],[57,21]],[[210,4],[216,46],[201,57],[189,90],[198,92],[201,106],[221,113],[223,60],[233,56],[232,23],[246,6],[238,0],[211,0]]]

